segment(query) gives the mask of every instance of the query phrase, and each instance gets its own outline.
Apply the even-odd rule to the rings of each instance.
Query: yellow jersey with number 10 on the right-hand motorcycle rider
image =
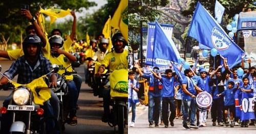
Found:
[[[110,66],[110,72],[128,69],[128,51],[124,49],[122,53],[116,53],[115,51],[109,52],[101,62],[102,64],[105,67]]]

